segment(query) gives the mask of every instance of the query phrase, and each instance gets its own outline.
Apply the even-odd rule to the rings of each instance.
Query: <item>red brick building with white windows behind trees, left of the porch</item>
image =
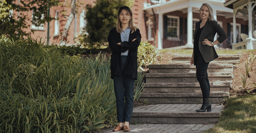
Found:
[[[64,0],[63,0],[64,1]],[[69,3],[71,0],[68,0]],[[79,2],[83,3],[78,7],[78,13],[76,17],[73,19],[69,32],[68,32],[68,41],[69,44],[76,43],[76,36],[81,33],[83,27],[85,27],[86,21],[84,20],[86,14],[86,4],[94,4],[96,0],[80,0]],[[145,22],[144,22],[144,14],[143,14],[143,0],[135,0],[134,6],[132,7],[133,17],[134,17],[134,25],[141,30],[142,41],[147,41],[146,39],[146,30],[145,30]],[[50,21],[50,29],[49,29],[49,44],[59,44],[60,37],[58,33],[63,32],[67,19],[62,15],[62,11],[66,11],[66,16],[68,17],[71,8],[63,6],[55,6],[50,8],[50,15],[52,17],[58,18],[58,20]],[[33,17],[33,12],[26,13],[29,20]],[[28,22],[30,27],[26,29],[27,32],[33,31],[34,33],[31,35],[33,38],[43,38],[47,40],[47,23],[43,24],[40,27],[35,27],[31,21]],[[59,37],[59,39],[58,39]],[[58,39],[58,40],[57,40]]]

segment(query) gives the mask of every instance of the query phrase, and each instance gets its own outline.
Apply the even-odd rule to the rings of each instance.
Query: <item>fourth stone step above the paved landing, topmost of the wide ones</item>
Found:
[[[208,73],[233,73],[233,64],[209,64]],[[190,64],[149,65],[149,73],[196,73],[196,66]]]

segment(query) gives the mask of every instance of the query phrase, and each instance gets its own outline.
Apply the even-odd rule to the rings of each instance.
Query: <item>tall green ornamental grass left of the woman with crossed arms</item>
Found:
[[[102,54],[69,56],[41,39],[1,36],[0,132],[83,133],[114,125],[109,67]]]

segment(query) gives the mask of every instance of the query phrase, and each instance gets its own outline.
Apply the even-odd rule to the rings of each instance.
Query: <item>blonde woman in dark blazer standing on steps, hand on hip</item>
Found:
[[[203,104],[197,112],[211,112],[210,103],[210,82],[207,69],[209,62],[219,57],[214,49],[214,45],[222,43],[227,35],[213,18],[213,8],[207,3],[203,3],[199,11],[200,21],[196,23],[194,34],[194,48],[191,65],[196,66],[196,77],[200,84],[203,94]],[[214,41],[214,36],[218,33],[219,37]]]

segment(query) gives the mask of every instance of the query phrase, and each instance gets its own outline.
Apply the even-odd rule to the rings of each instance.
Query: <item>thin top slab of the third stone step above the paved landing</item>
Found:
[[[232,77],[232,73],[208,73],[208,77]],[[146,73],[146,78],[194,78],[196,73]]]

